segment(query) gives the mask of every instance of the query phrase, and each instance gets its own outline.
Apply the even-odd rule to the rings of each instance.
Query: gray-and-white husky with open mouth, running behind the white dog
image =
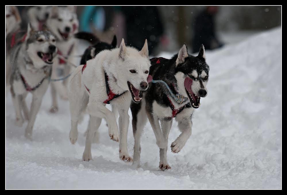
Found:
[[[11,95],[16,112],[16,125],[22,126],[28,120],[25,136],[32,139],[32,129],[43,96],[48,88],[53,60],[57,55],[56,38],[47,30],[34,31],[28,24],[24,42],[19,42],[11,53],[12,73]],[[32,93],[30,112],[25,97]]]

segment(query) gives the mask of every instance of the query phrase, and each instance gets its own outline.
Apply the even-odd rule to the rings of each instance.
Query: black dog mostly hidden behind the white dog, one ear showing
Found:
[[[111,44],[105,42],[98,42],[93,46],[89,46],[84,54],[82,55],[80,64],[86,64],[86,62],[92,58],[94,58],[99,52],[103,50],[111,50],[117,47],[117,37],[113,37],[113,41]]]

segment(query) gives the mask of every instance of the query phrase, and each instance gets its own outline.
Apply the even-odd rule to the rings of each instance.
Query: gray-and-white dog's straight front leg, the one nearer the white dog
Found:
[[[34,122],[36,120],[37,113],[40,109],[42,99],[43,99],[43,96],[36,96],[33,94],[31,109],[30,109],[30,120],[29,120],[28,125],[25,129],[25,137],[27,139],[32,140],[32,129],[34,126]]]

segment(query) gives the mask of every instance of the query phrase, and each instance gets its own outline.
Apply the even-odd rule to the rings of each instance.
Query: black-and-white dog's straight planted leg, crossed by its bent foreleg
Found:
[[[163,132],[163,137],[168,140],[168,135],[170,128],[172,127],[172,119],[171,120],[161,120],[161,129]],[[166,157],[167,147],[159,149],[159,168],[164,171],[165,169],[171,169],[171,167],[167,163]]]

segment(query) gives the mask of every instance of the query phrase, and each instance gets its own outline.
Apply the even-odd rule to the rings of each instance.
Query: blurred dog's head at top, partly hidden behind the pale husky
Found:
[[[27,24],[30,23],[32,28],[36,31],[43,29],[43,25],[46,24],[50,15],[52,6],[26,6],[22,11],[22,29],[27,28]]]

